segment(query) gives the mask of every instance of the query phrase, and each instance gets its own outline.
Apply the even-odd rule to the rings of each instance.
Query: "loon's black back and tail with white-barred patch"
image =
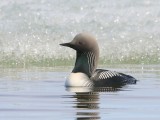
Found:
[[[109,70],[96,69],[90,78],[95,87],[122,87],[126,84],[135,84],[136,79],[130,75]]]

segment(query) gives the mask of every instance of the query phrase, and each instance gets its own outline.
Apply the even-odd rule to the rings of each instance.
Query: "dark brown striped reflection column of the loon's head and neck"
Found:
[[[77,120],[99,120],[99,95],[97,92],[76,93]]]

